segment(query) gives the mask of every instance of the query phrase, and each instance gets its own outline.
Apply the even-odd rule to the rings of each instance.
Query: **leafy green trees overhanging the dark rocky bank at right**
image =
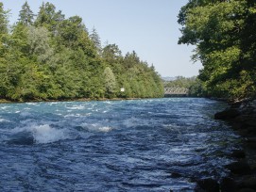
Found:
[[[190,0],[179,11],[179,44],[195,45],[208,96],[230,102],[256,97],[256,1]]]

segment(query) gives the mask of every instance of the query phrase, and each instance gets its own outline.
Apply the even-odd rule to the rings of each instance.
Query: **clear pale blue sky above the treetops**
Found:
[[[17,21],[25,0],[2,0]],[[27,0],[35,14],[43,0]],[[47,2],[47,1],[44,1]],[[194,47],[178,45],[177,15],[188,0],[48,0],[66,18],[78,15],[87,29],[95,27],[102,44],[116,43],[123,55],[135,51],[162,76],[194,76],[201,68],[190,56]]]

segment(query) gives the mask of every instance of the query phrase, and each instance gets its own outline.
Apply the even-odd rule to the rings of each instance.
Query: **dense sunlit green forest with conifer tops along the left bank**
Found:
[[[10,26],[0,2],[0,79],[0,99],[15,102],[163,94],[153,65],[134,51],[123,56],[116,44],[103,47],[82,18],[65,18],[51,3],[35,15],[26,2]]]

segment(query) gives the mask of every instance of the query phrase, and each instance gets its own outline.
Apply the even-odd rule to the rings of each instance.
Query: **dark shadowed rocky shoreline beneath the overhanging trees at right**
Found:
[[[256,100],[230,104],[214,115],[215,120],[226,120],[243,138],[243,150],[230,153],[235,162],[226,166],[230,175],[219,183],[212,179],[197,182],[196,191],[256,192]]]

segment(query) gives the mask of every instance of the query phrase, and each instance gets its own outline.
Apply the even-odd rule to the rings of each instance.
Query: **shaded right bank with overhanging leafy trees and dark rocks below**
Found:
[[[234,151],[230,177],[220,185],[199,181],[198,191],[256,190],[256,2],[255,0],[190,0],[179,12],[179,43],[196,45],[192,58],[203,69],[203,92],[224,98],[230,108],[215,114],[243,136],[244,151]]]

